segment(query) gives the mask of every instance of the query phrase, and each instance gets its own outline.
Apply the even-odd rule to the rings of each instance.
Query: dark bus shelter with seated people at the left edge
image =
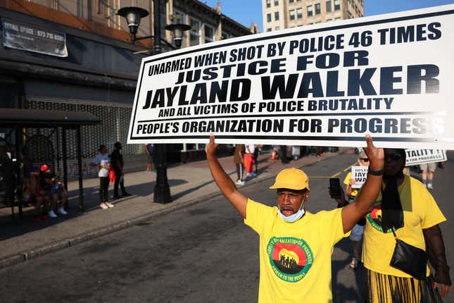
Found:
[[[18,206],[22,217],[24,176],[41,163],[62,168],[63,184],[68,191],[68,143],[77,150],[79,208],[84,209],[81,127],[99,123],[99,118],[86,112],[0,109],[0,199],[3,187],[4,202],[11,206],[13,217],[14,206]],[[69,131],[76,134],[70,142]]]

